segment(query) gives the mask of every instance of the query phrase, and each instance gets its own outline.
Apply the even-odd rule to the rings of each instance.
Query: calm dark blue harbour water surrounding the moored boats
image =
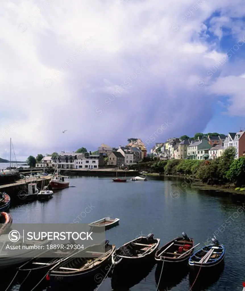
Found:
[[[106,238],[117,247],[141,234],[153,233],[161,239],[160,246],[181,236],[183,231],[194,238],[195,244],[202,245],[216,234],[226,247],[223,272],[217,280],[194,284],[192,290],[242,290],[245,281],[242,198],[199,191],[183,187],[182,183],[173,178],[148,178],[147,182],[128,179],[127,183],[113,183],[111,178],[71,177],[70,186],[75,187],[55,192],[49,201],[13,206],[10,213],[13,223],[73,223],[75,220],[90,223],[103,217],[118,217],[119,226],[106,231]],[[115,290],[156,291],[155,271],[156,265],[136,285]],[[6,289],[14,275],[2,277],[0,290]],[[127,278],[124,281],[127,282]],[[77,289],[71,290],[87,290],[81,286],[82,282]],[[186,274],[178,282],[166,282],[159,290],[188,291],[190,287],[189,274]],[[9,290],[18,290],[18,285],[11,288]],[[99,290],[112,290],[111,278],[106,278]]]

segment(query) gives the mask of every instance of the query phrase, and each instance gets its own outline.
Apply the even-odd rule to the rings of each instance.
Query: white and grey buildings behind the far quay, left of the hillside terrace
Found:
[[[107,158],[107,165],[119,167],[125,163],[138,163],[146,155],[147,151],[141,139],[131,142],[127,146],[119,146],[118,148],[112,148],[102,143],[98,148],[97,155],[62,151],[57,157],[43,157],[36,164],[36,168],[55,168],[58,165],[60,169],[97,169],[106,164],[105,158]]]

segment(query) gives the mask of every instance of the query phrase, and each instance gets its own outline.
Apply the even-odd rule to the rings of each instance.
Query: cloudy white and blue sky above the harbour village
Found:
[[[10,137],[26,159],[245,128],[242,0],[13,0],[0,9],[0,157]]]

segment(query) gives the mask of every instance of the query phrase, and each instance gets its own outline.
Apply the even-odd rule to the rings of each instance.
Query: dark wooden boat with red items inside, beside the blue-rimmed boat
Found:
[[[188,265],[188,260],[193,254],[194,241],[189,238],[186,233],[182,233],[182,237],[177,237],[164,246],[162,246],[155,255],[155,260],[159,265],[164,262],[164,265],[169,267],[184,267]]]

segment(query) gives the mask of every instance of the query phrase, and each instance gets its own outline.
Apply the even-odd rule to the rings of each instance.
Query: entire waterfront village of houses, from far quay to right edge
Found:
[[[148,140],[150,141],[150,140]],[[125,146],[113,148],[102,143],[97,151],[87,152],[81,148],[76,152],[60,154],[53,153],[37,159],[36,168],[54,168],[58,166],[61,169],[98,169],[114,168],[122,165],[136,164],[151,160],[164,159],[193,159],[207,160],[221,157],[226,148],[234,147],[236,157],[245,155],[245,132],[229,132],[228,135],[218,133],[197,133],[190,138],[187,135],[180,138],[169,138],[166,142],[155,143],[150,153],[147,148],[151,147],[149,142],[143,143],[141,139],[128,139]]]

